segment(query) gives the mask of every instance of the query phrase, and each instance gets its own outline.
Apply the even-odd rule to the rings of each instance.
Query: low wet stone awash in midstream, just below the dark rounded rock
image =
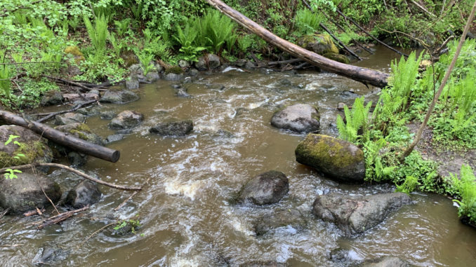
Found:
[[[253,222],[254,231],[258,236],[265,235],[270,231],[286,226],[291,226],[296,229],[296,231],[302,231],[307,225],[307,219],[296,209],[277,210],[269,214],[264,214]]]

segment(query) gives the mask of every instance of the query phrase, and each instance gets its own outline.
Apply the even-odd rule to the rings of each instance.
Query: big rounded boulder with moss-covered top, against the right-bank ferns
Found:
[[[309,134],[296,147],[296,161],[341,182],[362,183],[364,152],[355,144],[327,135]]]

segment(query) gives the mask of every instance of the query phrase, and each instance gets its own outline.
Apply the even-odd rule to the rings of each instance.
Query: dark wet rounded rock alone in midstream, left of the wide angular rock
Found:
[[[251,179],[239,194],[239,202],[266,205],[279,202],[289,191],[289,181],[282,172],[271,170]]]

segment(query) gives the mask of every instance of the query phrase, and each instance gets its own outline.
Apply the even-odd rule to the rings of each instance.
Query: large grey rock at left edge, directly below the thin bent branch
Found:
[[[16,179],[5,177],[0,179],[0,206],[5,209],[10,207],[11,213],[27,212],[34,210],[35,207],[49,205],[50,202],[41,191],[41,187],[53,203],[60,199],[60,186],[41,172],[32,174],[24,171],[16,175],[18,176]]]

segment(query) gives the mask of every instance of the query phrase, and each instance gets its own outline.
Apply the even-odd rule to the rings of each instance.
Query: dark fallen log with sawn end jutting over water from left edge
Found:
[[[67,146],[74,151],[78,151],[95,158],[100,158],[115,163],[120,157],[120,152],[117,150],[108,149],[107,147],[99,146],[83,139],[67,135],[66,133],[55,130],[48,125],[44,125],[43,123],[37,123],[36,121],[25,121],[24,118],[8,111],[0,110],[0,119],[4,120],[6,123],[28,128],[29,130],[36,132],[46,139],[50,139],[51,141],[62,146]]]

